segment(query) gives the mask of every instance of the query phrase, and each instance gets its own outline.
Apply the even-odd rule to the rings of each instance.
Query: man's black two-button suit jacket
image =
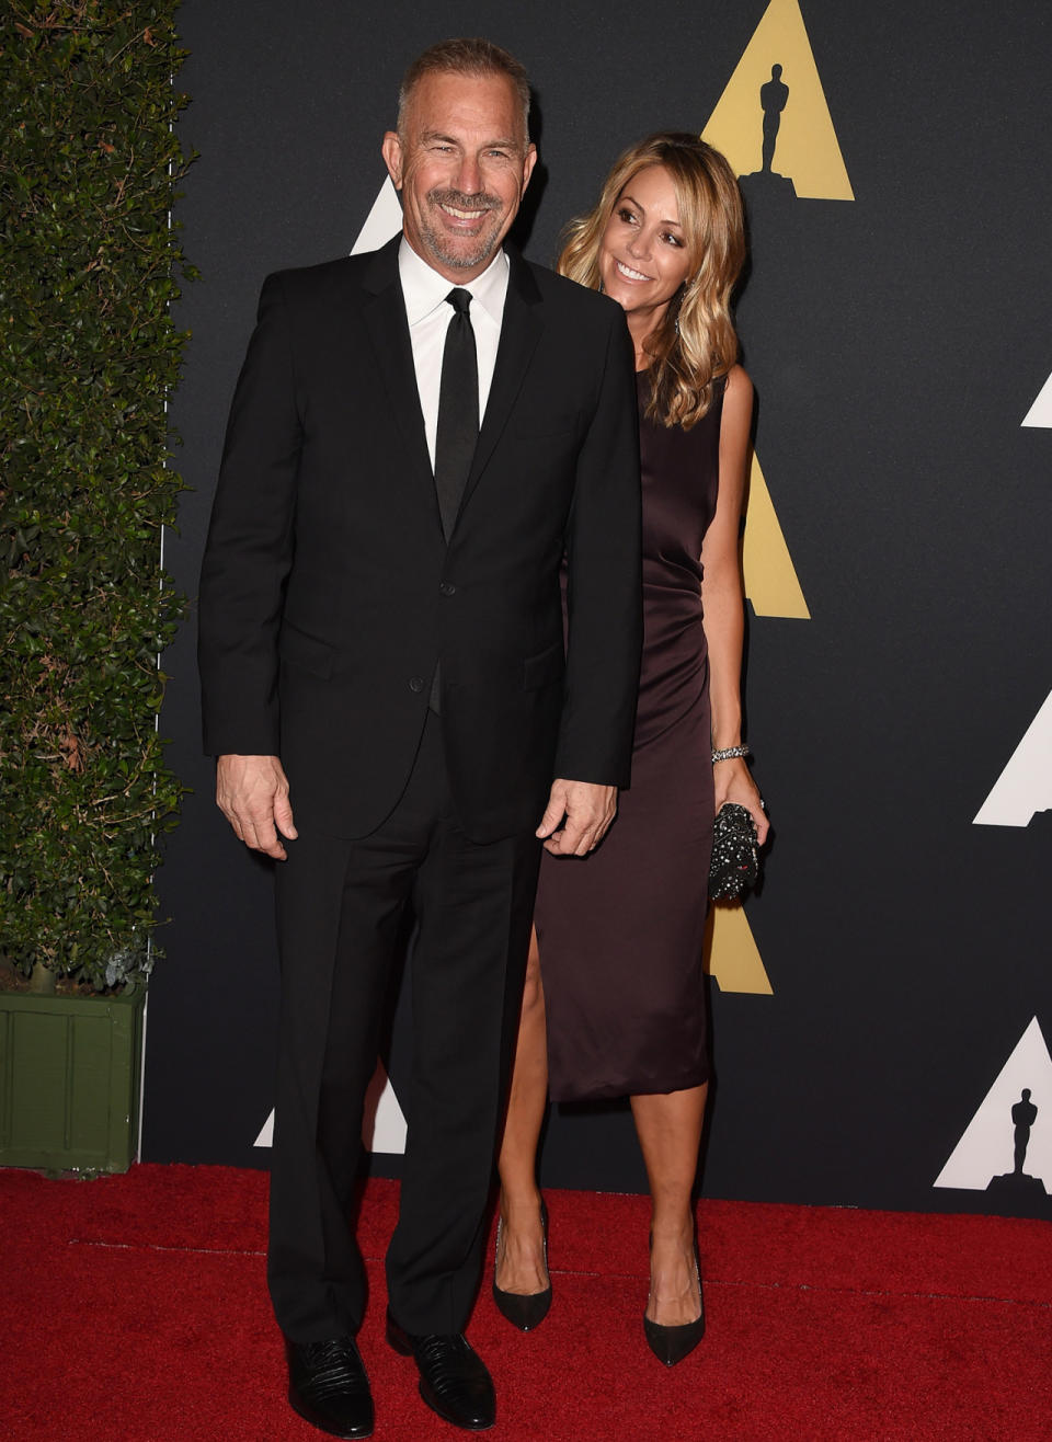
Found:
[[[397,255],[398,238],[263,287],[201,577],[205,750],[280,756],[300,829],[367,835],[413,766],[440,658],[455,802],[491,841],[537,825],[553,776],[628,782],[632,348],[612,301],[509,252],[446,545]]]

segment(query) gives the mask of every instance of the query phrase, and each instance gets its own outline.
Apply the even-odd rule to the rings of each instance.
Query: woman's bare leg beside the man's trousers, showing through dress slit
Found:
[[[548,1105],[548,1048],[544,1034],[544,985],[537,933],[530,936],[515,1069],[498,1169],[501,1172],[501,1247],[496,1285],[528,1295],[548,1285],[537,1185],[537,1144]]]

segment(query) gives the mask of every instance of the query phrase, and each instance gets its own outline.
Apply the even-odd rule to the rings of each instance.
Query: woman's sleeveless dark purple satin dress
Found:
[[[716,512],[723,398],[690,431],[642,415],[644,650],[632,786],[602,845],[544,854],[534,920],[554,1100],[709,1080],[701,945],[713,841],[701,541]]]

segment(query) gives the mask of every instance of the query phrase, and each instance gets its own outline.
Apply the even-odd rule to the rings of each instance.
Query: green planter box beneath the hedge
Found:
[[[144,1002],[0,992],[0,1165],[128,1169]]]

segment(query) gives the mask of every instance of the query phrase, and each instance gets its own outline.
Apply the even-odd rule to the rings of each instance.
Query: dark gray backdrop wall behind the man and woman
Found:
[[[485,33],[528,66],[543,169],[527,252],[550,261],[623,146],[704,125],[763,12],[189,0],[183,133],[201,159],[177,216],[203,278],[177,316],[193,335],[173,404],[193,487],[167,538],[179,584],[196,585],[260,283],[351,248],[414,53]],[[748,916],[773,995],[713,986],[704,1190],[1027,1210],[932,1182],[1030,1018],[1052,1035],[1049,815],[971,825],[1052,688],[1052,431],[1020,428],[1052,369],[1049,25],[1029,0],[802,12],[856,199],[752,212],[739,320],[758,451],[812,619],[749,624],[776,839]],[[144,1155],[264,1165],[268,865],[211,800],[192,626],[166,668],[162,728],[193,795],[160,874]],[[400,1056],[401,1018],[395,1083]],[[544,1180],[642,1188],[625,1109],[560,1109]]]

